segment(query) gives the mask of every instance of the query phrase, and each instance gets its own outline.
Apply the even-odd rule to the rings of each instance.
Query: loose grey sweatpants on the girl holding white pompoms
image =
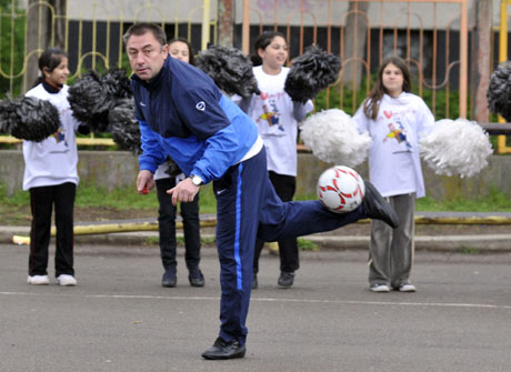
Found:
[[[399,218],[392,229],[380,220],[371,220],[369,249],[369,284],[387,284],[398,289],[409,283],[413,262],[415,193],[385,198]]]

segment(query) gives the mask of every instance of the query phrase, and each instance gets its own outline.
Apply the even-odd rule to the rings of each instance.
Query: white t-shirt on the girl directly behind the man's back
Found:
[[[262,66],[253,68],[260,95],[253,94],[247,114],[258,125],[258,132],[267,149],[268,170],[278,174],[297,177],[298,122],[293,117],[293,102],[284,91],[289,68],[279,74],[268,74]],[[241,97],[232,97],[234,102]],[[305,103],[305,112],[313,109],[312,101]]]

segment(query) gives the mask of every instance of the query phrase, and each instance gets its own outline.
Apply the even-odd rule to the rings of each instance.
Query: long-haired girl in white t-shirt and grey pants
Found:
[[[419,139],[434,125],[424,101],[410,93],[405,62],[383,61],[378,82],[353,117],[361,133],[369,132],[369,177],[394,208],[399,227],[371,221],[369,285],[373,292],[414,292],[410,282],[413,261],[415,198],[424,197]]]

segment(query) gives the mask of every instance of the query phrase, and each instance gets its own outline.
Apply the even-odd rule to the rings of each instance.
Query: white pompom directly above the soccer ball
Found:
[[[357,122],[339,109],[314,113],[300,125],[300,137],[324,162],[357,167],[368,157],[369,133],[360,134]]]

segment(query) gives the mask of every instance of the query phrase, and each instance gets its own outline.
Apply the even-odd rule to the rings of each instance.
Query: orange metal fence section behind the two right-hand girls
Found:
[[[264,30],[283,32],[290,59],[311,43],[339,54],[341,79],[325,107],[353,112],[369,92],[382,59],[408,61],[414,92],[439,118],[468,113],[467,0],[269,0],[244,2],[243,51]],[[273,4],[274,7],[270,7]]]

